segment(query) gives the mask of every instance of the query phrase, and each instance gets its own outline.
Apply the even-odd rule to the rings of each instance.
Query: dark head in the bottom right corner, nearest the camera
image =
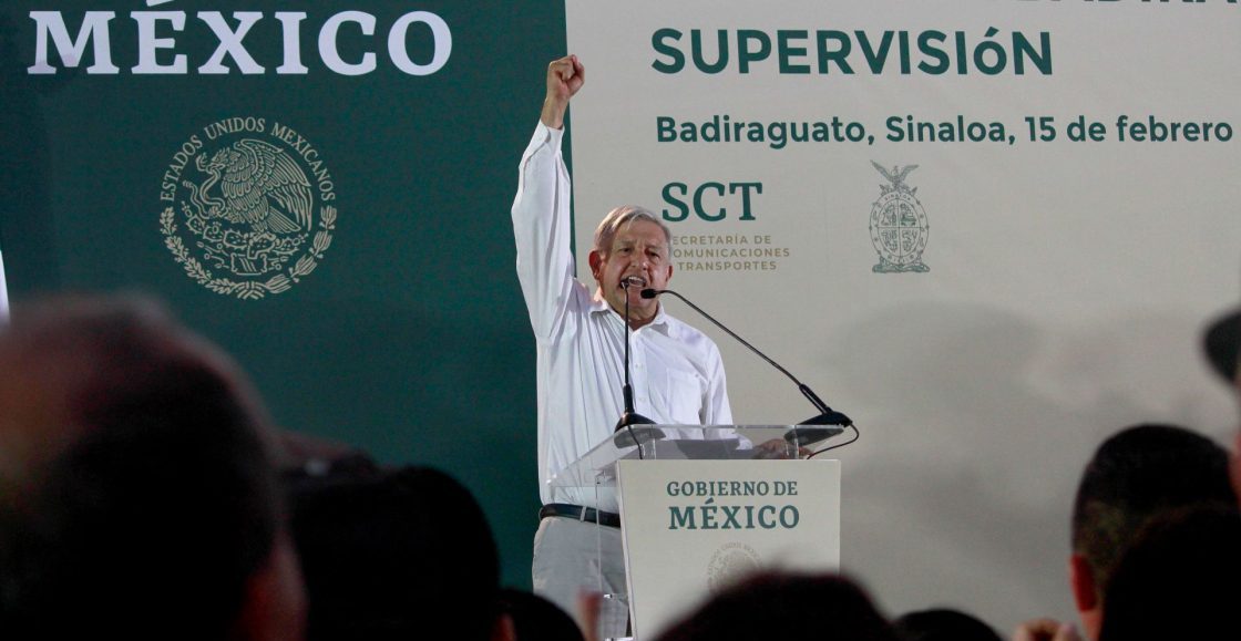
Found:
[[[1198,507],[1152,521],[1107,585],[1100,641],[1235,639],[1239,543],[1235,507]]]

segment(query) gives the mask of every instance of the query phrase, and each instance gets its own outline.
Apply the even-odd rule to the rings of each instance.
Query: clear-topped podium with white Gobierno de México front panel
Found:
[[[620,513],[628,591],[606,598],[627,601],[632,639],[649,641],[755,570],[839,568],[840,461],[802,455],[840,431],[634,425],[549,485],[566,502]],[[601,637],[623,639],[624,630]]]

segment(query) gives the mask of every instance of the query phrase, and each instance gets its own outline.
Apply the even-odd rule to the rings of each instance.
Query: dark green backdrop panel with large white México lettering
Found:
[[[433,68],[422,76],[390,52],[417,11],[397,47],[407,68]],[[338,22],[333,56],[321,40]],[[505,581],[529,586],[534,343],[508,212],[544,68],[563,48],[558,2],[6,2],[0,247],[14,303],[62,290],[165,300],[241,361],[282,425],[465,482]],[[204,73],[217,50],[227,73]],[[367,55],[374,71],[341,73]],[[169,72],[179,56],[185,71]],[[40,62],[55,73],[31,73]],[[297,62],[304,73],[282,73]],[[243,140],[259,151],[228,156]],[[238,174],[244,162],[268,182]],[[297,229],[256,213],[246,190]]]

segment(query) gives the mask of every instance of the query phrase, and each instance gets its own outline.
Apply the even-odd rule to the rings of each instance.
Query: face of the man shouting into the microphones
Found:
[[[625,289],[620,279],[639,276],[645,283],[630,286],[629,317],[634,326],[650,322],[659,311],[659,299],[643,299],[643,289],[665,289],[673,278],[668,238],[664,229],[652,222],[637,219],[612,237],[612,247],[591,252],[591,273],[612,309],[624,314]]]

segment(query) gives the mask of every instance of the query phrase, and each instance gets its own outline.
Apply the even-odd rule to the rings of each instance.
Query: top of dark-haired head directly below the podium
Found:
[[[896,641],[870,596],[838,574],[764,572],[711,598],[659,641]]]

